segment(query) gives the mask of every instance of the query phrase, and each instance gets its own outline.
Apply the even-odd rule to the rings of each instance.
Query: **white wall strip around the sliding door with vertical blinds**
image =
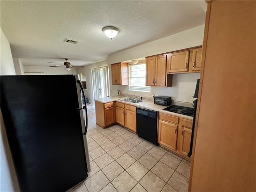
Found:
[[[101,62],[97,62],[94,64],[86,65],[84,68],[77,68],[77,74],[80,73],[86,73],[86,86],[87,90],[84,89],[84,94],[86,95],[86,98],[90,100],[90,103],[94,105],[94,99],[93,99],[93,91],[92,91],[92,80],[91,80],[91,72],[90,69],[97,68],[97,67],[104,67],[108,65],[108,60],[104,60]],[[110,69],[111,70],[111,69]]]

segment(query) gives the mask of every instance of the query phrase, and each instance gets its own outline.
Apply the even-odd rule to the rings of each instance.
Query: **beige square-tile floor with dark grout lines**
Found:
[[[70,192],[186,192],[190,162],[121,126],[96,125],[88,106],[91,172]]]

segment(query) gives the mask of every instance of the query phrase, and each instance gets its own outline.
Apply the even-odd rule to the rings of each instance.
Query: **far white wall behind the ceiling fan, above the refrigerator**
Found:
[[[24,73],[26,72],[43,72],[46,75],[59,75],[59,74],[76,74],[76,68],[71,68],[67,71],[66,67],[46,67],[46,66],[26,66],[24,65]]]

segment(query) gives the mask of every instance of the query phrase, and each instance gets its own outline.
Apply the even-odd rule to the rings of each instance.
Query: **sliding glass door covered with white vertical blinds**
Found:
[[[108,66],[91,69],[94,99],[110,96]]]

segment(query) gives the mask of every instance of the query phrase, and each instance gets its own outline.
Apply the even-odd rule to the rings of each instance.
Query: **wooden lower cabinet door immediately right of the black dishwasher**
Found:
[[[162,120],[158,122],[158,143],[168,149],[176,150],[178,125]]]

